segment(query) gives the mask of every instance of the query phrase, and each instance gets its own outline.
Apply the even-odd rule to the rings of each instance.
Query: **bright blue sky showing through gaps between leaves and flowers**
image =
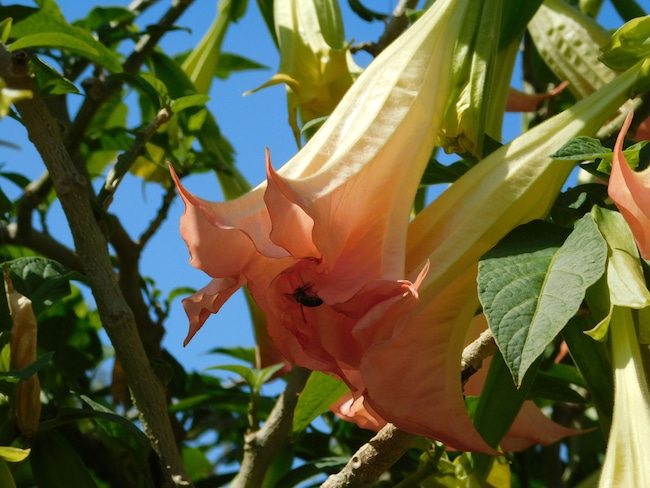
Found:
[[[33,6],[34,2],[15,1],[13,4]],[[84,17],[95,5],[128,6],[130,1],[113,0],[112,2],[62,0],[59,5],[68,21]],[[170,2],[159,2],[145,20],[138,21],[144,27],[154,23]],[[366,0],[368,6],[379,11],[390,11],[394,1]],[[368,24],[353,15],[346,0],[340,0],[348,39],[355,41],[376,40],[383,31],[379,22]],[[162,47],[169,54],[187,51],[195,46],[216,15],[216,0],[196,0],[188,12],[178,22],[189,27],[167,34]],[[617,17],[611,17],[611,22],[618,23]],[[215,80],[211,101],[208,106],[217,118],[224,135],[233,144],[237,155],[236,161],[240,170],[248,180],[256,185],[264,178],[264,148],[268,146],[274,166],[277,168],[296,152],[296,145],[291,130],[287,124],[287,110],[284,88],[280,86],[264,89],[247,97],[242,93],[264,83],[277,69],[279,57],[275,46],[270,40],[256,3],[249,1],[246,16],[228,31],[224,51],[234,52],[263,65],[269,66],[267,71],[251,71],[233,75],[226,81]],[[366,54],[357,56],[357,62],[365,66],[370,57]],[[134,110],[133,125],[139,123],[138,111]],[[15,121],[4,119],[0,121],[0,139],[10,140],[18,144],[19,151],[0,147],[0,164],[5,171],[26,172],[35,177],[44,170],[40,157],[33,150],[25,136],[24,129]],[[509,140],[518,132],[519,115],[510,115],[506,121],[504,139]],[[188,189],[197,195],[210,200],[221,200],[216,178],[211,174],[190,177],[184,180]],[[14,188],[6,181],[0,181],[5,192],[17,196]],[[133,236],[139,235],[153,218],[160,201],[160,189],[153,184],[143,185],[139,179],[127,177],[118,190],[111,210],[123,218],[123,223]],[[137,209],[137,211],[134,211]],[[159,289],[167,294],[179,286],[200,288],[207,284],[209,278],[202,272],[194,270],[188,264],[188,252],[178,233],[178,222],[183,211],[180,200],[177,200],[170,212],[167,222],[161,228],[157,237],[145,249],[142,261],[142,272],[155,280]],[[65,232],[65,225],[55,225],[62,222],[60,210],[52,211],[54,220],[51,230],[55,236],[67,243],[71,242]],[[187,318],[182,310],[180,300],[172,306],[171,315],[166,323],[167,334],[164,346],[188,369],[202,369],[215,364],[230,362],[227,359],[208,356],[205,353],[215,347],[250,346],[253,344],[252,332],[249,325],[248,311],[241,294],[237,294],[223,307],[222,311],[212,316],[204,328],[190,344],[183,348],[182,343],[187,333]]]

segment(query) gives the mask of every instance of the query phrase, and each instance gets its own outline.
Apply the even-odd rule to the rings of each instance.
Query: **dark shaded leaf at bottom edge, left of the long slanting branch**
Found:
[[[97,488],[88,468],[65,437],[56,431],[39,433],[34,438],[30,456],[37,486]]]

